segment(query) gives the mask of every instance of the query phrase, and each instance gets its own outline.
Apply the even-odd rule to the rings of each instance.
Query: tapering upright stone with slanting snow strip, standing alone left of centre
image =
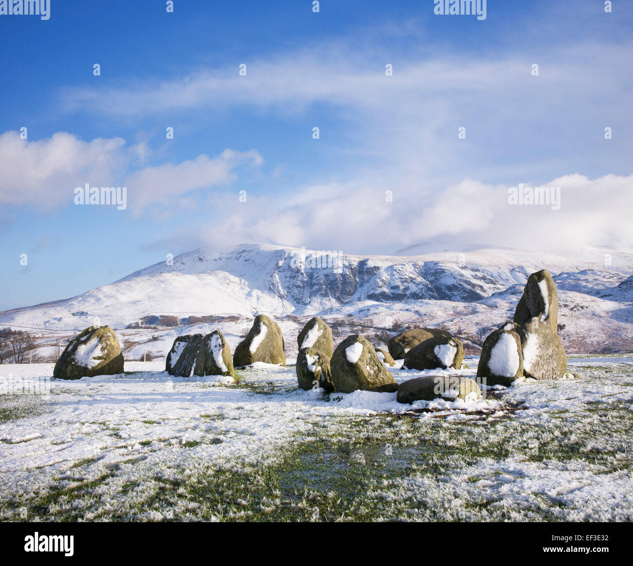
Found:
[[[284,336],[279,324],[265,314],[255,317],[246,338],[235,348],[233,365],[244,367],[254,362],[285,364]]]

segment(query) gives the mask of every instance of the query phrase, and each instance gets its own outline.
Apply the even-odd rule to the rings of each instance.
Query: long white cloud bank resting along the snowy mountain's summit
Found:
[[[530,250],[633,247],[633,175],[590,180],[574,174],[541,184],[560,187],[560,209],[511,205],[508,186],[470,179],[436,194],[396,190],[391,203],[385,202],[382,186],[366,183],[307,187],[290,202],[249,197],[237,203],[234,195],[218,195],[222,218],[206,228],[204,241],[198,243],[221,248],[266,242],[365,254],[391,253],[422,242],[437,249],[470,243]],[[525,185],[536,186],[527,180]]]

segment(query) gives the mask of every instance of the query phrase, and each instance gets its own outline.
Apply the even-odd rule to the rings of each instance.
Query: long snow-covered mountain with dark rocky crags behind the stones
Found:
[[[353,315],[380,328],[443,323],[475,336],[512,317],[527,277],[542,268],[558,286],[563,340],[580,340],[589,329],[591,343],[606,336],[633,339],[633,250],[598,248],[554,255],[473,246],[392,256],[260,244],[199,249],[77,297],[1,312],[0,326],[121,329],[149,315],[265,312],[278,318]]]

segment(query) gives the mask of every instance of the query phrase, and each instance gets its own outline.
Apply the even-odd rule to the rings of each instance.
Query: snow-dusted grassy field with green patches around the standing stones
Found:
[[[53,364],[1,365],[0,520],[633,520],[630,355],[414,405],[299,390],[292,365],[164,367],[32,395]]]

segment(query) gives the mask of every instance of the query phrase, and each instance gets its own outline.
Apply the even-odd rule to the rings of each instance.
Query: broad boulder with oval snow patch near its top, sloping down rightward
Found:
[[[363,336],[354,334],[343,340],[334,350],[330,367],[334,388],[340,393],[398,390],[396,380]]]

